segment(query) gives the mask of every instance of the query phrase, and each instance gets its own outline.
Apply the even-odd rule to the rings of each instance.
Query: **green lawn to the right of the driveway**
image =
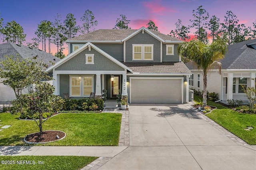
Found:
[[[199,99],[202,101],[202,98],[194,96],[195,102],[199,102]],[[249,145],[256,145],[256,114],[239,113],[208,100],[207,105],[217,107],[211,113],[206,114],[207,117],[240,137]],[[244,130],[247,127],[253,127],[254,129],[251,129],[251,131]]]

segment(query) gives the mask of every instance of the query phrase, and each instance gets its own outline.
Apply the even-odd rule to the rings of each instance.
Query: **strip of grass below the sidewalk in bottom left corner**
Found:
[[[80,170],[97,158],[90,156],[0,156],[1,170]]]

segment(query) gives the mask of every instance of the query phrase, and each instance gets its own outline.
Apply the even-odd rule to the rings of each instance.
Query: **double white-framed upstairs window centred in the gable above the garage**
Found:
[[[132,60],[153,60],[153,44],[132,45]]]

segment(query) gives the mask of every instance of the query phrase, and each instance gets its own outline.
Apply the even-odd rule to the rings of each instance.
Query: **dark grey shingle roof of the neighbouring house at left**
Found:
[[[52,63],[60,61],[58,57],[39,49],[26,47],[24,45],[17,45],[10,42],[0,44],[0,61],[5,60],[6,56],[11,55],[14,57],[18,55],[23,59],[32,59],[32,57],[37,56],[38,59],[42,59],[46,64],[49,64],[50,61],[52,61]]]

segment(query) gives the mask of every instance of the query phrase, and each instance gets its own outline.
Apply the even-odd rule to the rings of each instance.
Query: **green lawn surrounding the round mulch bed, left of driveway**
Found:
[[[43,131],[59,130],[66,138],[44,146],[118,146],[122,114],[62,113],[43,123]],[[28,145],[26,135],[39,131],[35,121],[19,120],[18,115],[0,113],[1,126],[11,125],[0,133],[0,145]]]

